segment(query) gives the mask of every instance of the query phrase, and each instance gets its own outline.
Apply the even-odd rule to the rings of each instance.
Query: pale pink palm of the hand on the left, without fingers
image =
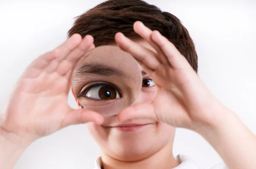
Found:
[[[49,135],[61,129],[61,120],[70,110],[67,104],[68,82],[67,77],[55,73],[35,79],[22,79],[22,86],[17,88],[15,97],[10,102],[17,106],[10,107],[7,122],[18,118],[18,123],[22,124],[17,123],[17,127],[26,125],[26,130],[38,136]],[[28,90],[23,90],[23,86],[29,87]],[[42,128],[43,125],[45,127]]]

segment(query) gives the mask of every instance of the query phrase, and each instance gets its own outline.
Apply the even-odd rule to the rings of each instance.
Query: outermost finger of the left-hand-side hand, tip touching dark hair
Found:
[[[73,51],[82,41],[80,34],[73,34],[63,44],[57,47],[60,50],[60,56],[57,58],[58,62],[65,59],[71,51]]]

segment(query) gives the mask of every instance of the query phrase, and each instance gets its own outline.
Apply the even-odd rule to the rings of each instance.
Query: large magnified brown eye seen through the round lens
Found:
[[[84,87],[85,88],[85,87]],[[120,99],[122,94],[119,90],[109,83],[96,83],[82,89],[80,96],[95,100]]]

